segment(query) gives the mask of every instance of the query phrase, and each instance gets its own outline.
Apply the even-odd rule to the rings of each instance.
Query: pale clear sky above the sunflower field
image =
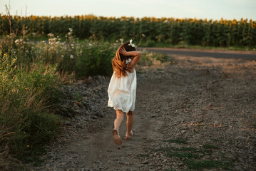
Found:
[[[0,0],[6,14],[9,0]],[[11,14],[19,16],[133,16],[176,19],[256,20],[256,0],[11,0]]]

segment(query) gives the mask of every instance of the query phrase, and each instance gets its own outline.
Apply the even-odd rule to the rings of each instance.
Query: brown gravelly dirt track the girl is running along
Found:
[[[256,170],[256,62],[171,58],[174,65],[137,68],[130,141],[113,143],[108,108],[31,170]]]

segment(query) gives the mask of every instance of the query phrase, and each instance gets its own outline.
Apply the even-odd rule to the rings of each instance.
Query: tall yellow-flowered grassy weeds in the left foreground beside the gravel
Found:
[[[52,112],[58,103],[56,66],[34,63],[29,71],[17,66],[18,59],[0,51],[1,147],[21,162],[34,162],[58,133],[61,120]],[[14,170],[9,155],[1,170]],[[11,157],[11,158],[12,158]],[[17,168],[18,165],[15,166]]]

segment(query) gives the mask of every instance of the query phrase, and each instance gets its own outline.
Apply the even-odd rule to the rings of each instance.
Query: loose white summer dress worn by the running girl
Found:
[[[130,59],[126,63],[130,63]],[[126,71],[127,76],[116,77],[115,72],[108,86],[108,107],[128,113],[135,108],[137,78],[136,71]]]

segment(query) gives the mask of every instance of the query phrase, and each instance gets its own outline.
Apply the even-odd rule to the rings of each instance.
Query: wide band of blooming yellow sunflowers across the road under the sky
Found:
[[[0,35],[10,32],[9,17],[0,15]],[[73,28],[77,38],[114,41],[119,38],[133,38],[137,41],[161,43],[188,43],[199,46],[255,46],[256,21],[233,19],[213,21],[213,19],[174,19],[123,16],[11,16],[13,31],[21,30],[31,35],[48,33],[64,36],[68,28]]]

